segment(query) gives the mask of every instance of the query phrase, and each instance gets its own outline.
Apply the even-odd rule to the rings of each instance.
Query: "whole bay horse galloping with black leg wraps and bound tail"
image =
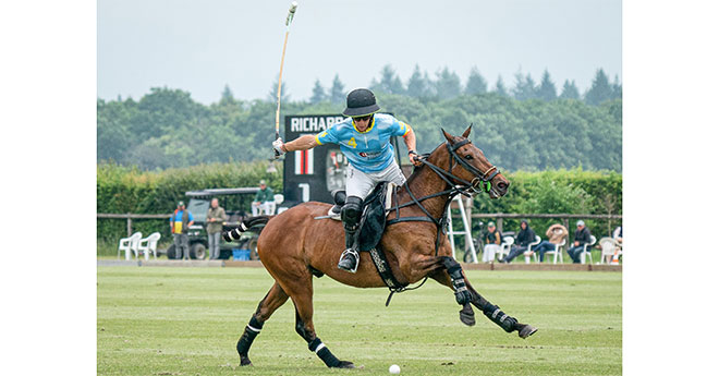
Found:
[[[390,213],[388,218],[407,220],[388,222],[379,246],[386,252],[390,268],[401,284],[415,283],[428,277],[451,288],[462,306],[460,319],[465,325],[475,324],[474,305],[504,331],[519,331],[521,338],[526,338],[537,329],[520,324],[479,295],[466,280],[460,264],[450,256],[448,238],[441,232],[447,206],[454,195],[477,193],[477,187],[486,186],[483,192],[488,193],[490,198],[499,198],[507,194],[510,184],[483,151],[467,140],[471,130],[472,125],[459,137],[442,130],[447,143],[422,159],[423,166],[415,168],[394,196],[394,213]],[[255,337],[272,313],[292,299],[295,330],[307,341],[309,350],[328,367],[354,367],[352,362],[337,359],[315,332],[313,275],[324,274],[357,288],[383,288],[386,284],[368,252],[361,252],[355,274],[337,267],[337,259],[345,245],[344,228],[340,221],[315,219],[326,215],[330,207],[325,203],[303,203],[273,217],[246,219],[241,229],[233,230],[245,231],[265,223],[257,240],[257,253],[275,279],[275,284],[259,302],[237,341],[241,365],[252,365],[248,352]]]

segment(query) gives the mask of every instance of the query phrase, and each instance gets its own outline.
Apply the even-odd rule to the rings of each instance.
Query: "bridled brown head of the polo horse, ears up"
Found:
[[[499,172],[497,167],[487,160],[485,154],[474,146],[467,138],[472,132],[470,125],[462,136],[453,136],[442,130],[447,138],[447,153],[449,154],[449,172],[471,182],[475,192],[484,191],[491,198],[499,198],[507,194],[509,181]],[[456,181],[462,184],[461,181]]]

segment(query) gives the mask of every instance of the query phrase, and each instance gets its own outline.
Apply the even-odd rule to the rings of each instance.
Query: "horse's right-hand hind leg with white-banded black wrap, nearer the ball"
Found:
[[[296,280],[292,283],[289,293],[294,303],[295,311],[295,330],[305,341],[309,351],[314,352],[325,362],[325,365],[331,368],[354,368],[352,362],[340,361],[330,352],[322,341],[315,333],[315,326],[312,322],[313,316],[313,288],[312,276],[307,280]]]

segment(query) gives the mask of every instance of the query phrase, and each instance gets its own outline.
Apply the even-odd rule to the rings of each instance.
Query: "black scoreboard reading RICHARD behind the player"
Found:
[[[315,135],[345,119],[342,114],[302,114],[284,117],[284,142],[302,135]],[[391,138],[399,156],[397,137]],[[399,163],[399,160],[398,160]],[[344,190],[348,160],[340,145],[325,144],[309,150],[297,150],[284,157],[284,202],[293,206],[308,201],[332,203],[330,192]]]

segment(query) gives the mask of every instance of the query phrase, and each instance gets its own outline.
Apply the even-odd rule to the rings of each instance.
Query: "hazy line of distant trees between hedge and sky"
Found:
[[[621,171],[621,85],[617,80],[609,83],[602,70],[581,97],[573,82],[565,82],[557,95],[547,72],[539,84],[529,74],[517,73],[511,88],[499,77],[491,90],[476,70],[464,87],[448,69],[435,80],[418,72],[415,69],[403,84],[388,65],[369,87],[382,111],[413,126],[419,153],[441,143],[440,128],[460,134],[472,123],[471,138],[505,170]],[[339,75],[329,90],[318,82],[309,100],[283,99],[282,114],[343,110],[349,89]],[[270,158],[273,93],[267,99],[241,100],[226,86],[221,98],[209,106],[185,90],[168,87],[154,87],[138,100],[98,99],[97,160],[153,170]],[[287,93],[283,87],[283,97]]]

